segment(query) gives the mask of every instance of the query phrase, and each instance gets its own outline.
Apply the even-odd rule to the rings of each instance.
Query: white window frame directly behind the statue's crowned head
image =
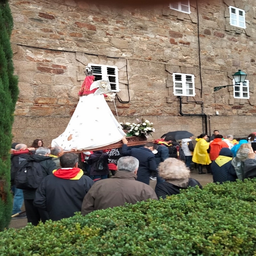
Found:
[[[95,81],[109,79],[112,92],[119,92],[118,68],[116,66],[88,63],[88,67],[100,67],[101,68],[100,72],[98,69],[97,69],[97,72],[96,70],[94,70],[93,72],[93,76],[96,76]],[[114,69],[114,74],[111,74],[108,71],[108,68]]]

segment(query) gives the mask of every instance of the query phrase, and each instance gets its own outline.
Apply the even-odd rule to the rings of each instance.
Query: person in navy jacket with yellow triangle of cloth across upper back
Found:
[[[222,148],[219,156],[212,162],[211,170],[213,182],[236,181],[237,175],[231,164],[233,153],[229,148]]]

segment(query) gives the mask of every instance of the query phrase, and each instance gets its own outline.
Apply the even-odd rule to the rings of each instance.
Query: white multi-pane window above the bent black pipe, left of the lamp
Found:
[[[173,73],[173,94],[175,96],[195,96],[195,76],[192,74]],[[192,88],[187,88],[187,85]],[[192,93],[189,94],[189,90]]]

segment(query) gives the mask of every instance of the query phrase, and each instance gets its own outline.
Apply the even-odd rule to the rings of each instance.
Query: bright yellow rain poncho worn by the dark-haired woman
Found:
[[[195,144],[192,161],[194,163],[200,163],[204,165],[212,163],[209,154],[207,153],[207,149],[209,148],[209,142],[207,142],[203,138],[195,140],[197,141],[197,143]]]

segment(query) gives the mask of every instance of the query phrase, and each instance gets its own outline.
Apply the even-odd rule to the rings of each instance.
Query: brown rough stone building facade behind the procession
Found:
[[[219,129],[244,137],[256,131],[256,0],[190,1],[191,13],[169,6],[115,9],[83,0],[10,0],[12,47],[20,96],[14,141],[49,145],[67,126],[88,63],[118,67],[120,122],[154,122],[166,131],[199,135]],[[230,25],[230,6],[246,28]],[[248,74],[249,99],[236,99],[238,69]],[[174,95],[173,73],[195,76],[195,96]],[[84,114],[90,110],[85,109]],[[216,116],[216,111],[219,115]]]

